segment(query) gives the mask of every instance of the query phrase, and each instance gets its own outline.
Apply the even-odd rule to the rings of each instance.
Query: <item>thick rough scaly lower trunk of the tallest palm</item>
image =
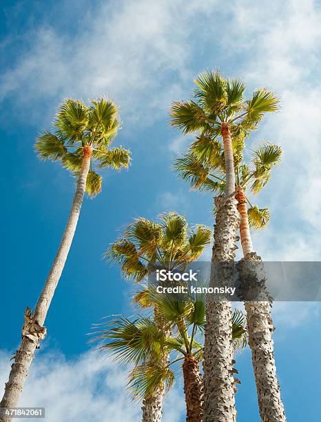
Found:
[[[216,225],[211,261],[212,286],[234,284],[236,230],[240,214],[236,199],[216,198]],[[233,376],[232,307],[225,297],[207,298],[204,347],[204,422],[235,422],[235,381]]]

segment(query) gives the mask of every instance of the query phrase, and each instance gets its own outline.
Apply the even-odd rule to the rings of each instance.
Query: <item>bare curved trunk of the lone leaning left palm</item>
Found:
[[[34,351],[39,348],[39,342],[45,336],[46,330],[43,327],[43,323],[45,322],[45,317],[47,316],[52,297],[54,296],[54,290],[56,290],[61,273],[63,272],[63,267],[68,257],[68,252],[76,230],[81,204],[83,203],[83,197],[85,194],[91,154],[92,149],[89,146],[83,148],[81,174],[79,175],[79,179],[77,181],[76,192],[74,194],[68,223],[34,313],[32,314],[29,308],[25,310],[25,321],[21,332],[22,341],[19,350],[17,350],[15,354],[14,363],[11,366],[9,381],[6,383],[0,408],[17,407],[19,397],[23,389],[23,384],[25,383],[30,364],[34,358]],[[1,422],[9,422],[10,420],[10,418],[0,419]]]

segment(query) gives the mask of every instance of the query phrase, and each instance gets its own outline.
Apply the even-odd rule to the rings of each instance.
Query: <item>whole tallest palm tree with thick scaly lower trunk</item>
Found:
[[[224,79],[218,71],[203,72],[195,80],[194,100],[172,103],[172,125],[183,133],[198,132],[198,143],[207,139],[209,160],[218,157],[222,139],[225,164],[225,194],[216,198],[216,225],[211,265],[211,284],[231,285],[235,259],[236,230],[240,215],[236,209],[233,142],[242,142],[266,112],[278,110],[278,99],[265,89],[245,99],[245,84],[239,79]],[[220,148],[219,148],[220,150]],[[220,183],[217,181],[215,183]],[[222,264],[223,263],[223,264]],[[233,351],[231,349],[231,302],[221,297],[207,304],[204,350],[204,420],[236,421]]]

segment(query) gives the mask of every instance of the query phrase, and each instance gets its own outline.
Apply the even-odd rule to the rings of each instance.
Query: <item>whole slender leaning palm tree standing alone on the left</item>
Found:
[[[45,336],[43,323],[68,257],[85,191],[94,197],[101,190],[101,176],[94,171],[94,165],[98,169],[120,169],[130,163],[130,151],[110,148],[119,126],[118,110],[112,101],[102,98],[86,106],[83,101],[68,99],[56,114],[54,132],[44,132],[35,143],[40,159],[58,161],[77,182],[65,232],[43,291],[34,312],[25,310],[22,341],[14,356],[2,408],[17,406],[34,351]]]

